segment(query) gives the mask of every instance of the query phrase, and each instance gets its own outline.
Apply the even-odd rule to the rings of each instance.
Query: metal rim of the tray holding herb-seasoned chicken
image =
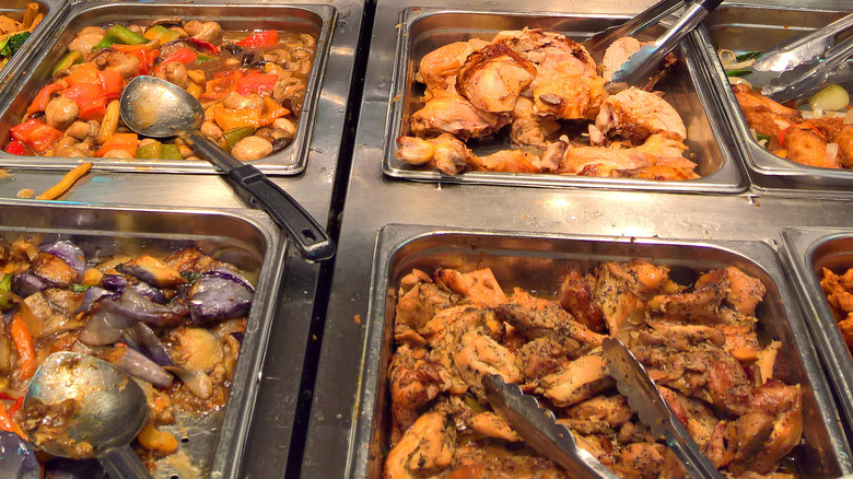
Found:
[[[811,457],[816,453],[821,459],[821,470],[827,474],[827,477],[831,477],[833,474],[828,468],[838,469],[839,474],[853,472],[853,463],[851,463],[851,452],[848,443],[844,441],[844,433],[840,425],[838,410],[832,400],[832,395],[827,384],[827,381],[822,374],[819,365],[817,353],[809,341],[808,331],[804,324],[803,317],[799,315],[799,308],[794,303],[792,295],[790,294],[787,282],[785,279],[784,270],[781,266],[779,255],[775,249],[767,243],[757,241],[686,241],[686,240],[662,240],[662,238],[628,238],[616,236],[574,236],[563,234],[542,234],[542,233],[527,233],[527,232],[499,232],[499,231],[478,231],[478,230],[454,230],[433,226],[421,225],[401,225],[389,224],[383,227],[376,237],[373,267],[372,267],[372,281],[370,287],[369,299],[369,314],[365,328],[364,347],[362,350],[362,367],[359,377],[359,392],[357,396],[354,418],[357,424],[351,429],[351,437],[349,441],[350,448],[348,451],[347,472],[344,477],[349,479],[361,479],[375,476],[375,470],[371,470],[371,464],[374,467],[377,466],[377,462],[381,464],[381,458],[375,456],[375,451],[372,451],[372,444],[374,441],[378,441],[379,434],[383,434],[382,429],[385,424],[382,423],[385,412],[383,408],[384,398],[379,397],[381,393],[387,396],[387,390],[383,386],[385,381],[386,371],[389,360],[386,361],[385,354],[390,354],[385,348],[385,341],[388,341],[389,334],[393,331],[393,324],[390,326],[386,323],[389,320],[389,313],[387,307],[393,307],[396,294],[396,284],[392,284],[394,280],[392,276],[392,268],[397,255],[407,247],[407,245],[417,243],[426,237],[441,236],[441,235],[459,235],[474,237],[492,237],[501,238],[507,237],[518,240],[521,243],[513,248],[500,248],[499,252],[505,256],[531,256],[542,258],[583,258],[592,260],[609,260],[619,259],[626,260],[627,256],[623,253],[617,253],[614,255],[607,254],[599,248],[596,248],[597,244],[614,244],[623,245],[624,247],[634,248],[634,245],[639,247],[638,253],[643,248],[652,247],[654,245],[669,247],[669,248],[711,248],[714,252],[722,252],[724,254],[731,254],[740,258],[740,261],[747,265],[752,265],[759,268],[764,274],[772,280],[779,293],[779,299],[782,302],[782,308],[787,319],[791,337],[786,338],[791,341],[791,347],[794,349],[794,355],[802,361],[803,373],[805,377],[802,378],[801,384],[804,381],[810,382],[810,393],[815,399],[817,411],[813,411],[811,416],[815,420],[819,420],[823,424],[823,430],[828,437],[829,444],[808,444],[809,448],[804,452],[803,455]],[[541,241],[541,240],[554,240],[558,242],[580,242],[589,245],[592,253],[559,253],[551,250],[540,249],[525,249],[525,241]],[[481,248],[479,245],[468,244],[466,242],[456,242],[453,244],[454,250],[469,252],[469,255],[474,255],[474,252],[478,252],[483,255],[490,253],[489,249]],[[628,253],[628,252],[627,252]],[[514,255],[515,254],[515,255]],[[630,252],[633,255],[633,252]],[[647,257],[646,255],[636,254],[633,257]],[[714,264],[708,258],[654,258],[657,262],[668,265],[680,264],[696,264],[702,262],[705,268],[709,267],[723,267],[723,266],[739,266],[738,264],[732,264],[731,261],[724,261],[720,265]],[[770,290],[770,287],[768,288]],[[379,297],[379,291],[385,291],[385,294]],[[388,348],[389,349],[389,348]],[[807,392],[808,389],[805,389]],[[809,411],[804,410],[804,423],[809,418]],[[804,439],[806,432],[804,431]],[[831,462],[831,465],[828,465]],[[372,475],[372,472],[374,475]]]

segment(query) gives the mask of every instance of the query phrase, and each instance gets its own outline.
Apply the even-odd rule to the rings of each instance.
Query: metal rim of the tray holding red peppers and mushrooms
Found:
[[[44,1],[59,1],[59,0],[44,0]],[[14,69],[7,70],[9,79],[19,79],[16,85],[12,87],[4,87],[5,94],[0,94],[0,117],[8,116],[8,112],[12,106],[14,100],[17,96],[24,94],[23,89],[25,83],[34,75],[36,67],[42,66],[39,60],[44,55],[44,50],[52,48],[59,42],[59,37],[69,27],[70,23],[78,16],[85,14],[86,12],[97,9],[115,9],[116,5],[126,3],[128,5],[138,5],[137,2],[129,0],[125,1],[108,1],[108,0],[78,0],[63,5],[62,15],[57,17],[50,25],[49,32],[45,31],[43,35],[38,37],[37,46],[28,49],[26,60],[19,59]],[[191,3],[186,3],[179,0],[156,0],[149,3],[148,7],[156,9],[157,7],[174,8],[174,9],[189,9],[190,11],[198,11],[197,15],[206,15],[201,7],[220,7],[215,0],[200,0]],[[315,114],[319,96],[322,92],[323,79],[325,77],[325,68],[327,57],[331,48],[331,35],[337,22],[337,9],[329,4],[320,3],[283,3],[283,1],[272,0],[265,3],[241,3],[241,8],[280,8],[292,11],[303,11],[316,15],[320,21],[320,27],[317,32],[317,44],[314,52],[314,60],[311,67],[311,73],[306,81],[305,97],[303,101],[303,112],[299,119],[299,126],[296,131],[296,138],[293,143],[285,149],[285,153],[277,153],[267,159],[261,159],[253,162],[258,170],[268,175],[296,175],[305,170],[307,162],[311,139],[314,132]],[[151,16],[153,20],[156,15]],[[235,17],[233,13],[227,13],[223,16]],[[273,17],[274,19],[274,17]],[[215,17],[212,17],[215,20]],[[37,48],[36,48],[37,47]],[[30,70],[24,65],[28,63]],[[9,66],[7,66],[9,67]],[[0,77],[1,79],[2,77]],[[1,84],[1,83],[0,83]],[[35,92],[33,92],[35,95]],[[277,155],[281,157],[276,159]],[[274,159],[276,162],[271,162],[270,159]],[[94,163],[93,168],[95,171],[109,171],[109,172],[140,172],[147,173],[197,173],[197,174],[219,174],[219,171],[206,161],[172,161],[172,160],[109,160],[109,159],[83,159],[92,161]],[[265,163],[265,160],[267,162]],[[0,151],[0,165],[4,167],[19,167],[23,170],[68,170],[69,166],[79,163],[81,159],[67,159],[58,156],[17,156]],[[282,163],[283,162],[283,163]]]

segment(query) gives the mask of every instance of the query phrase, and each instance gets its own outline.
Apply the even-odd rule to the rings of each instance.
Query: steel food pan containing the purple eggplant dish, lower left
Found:
[[[45,241],[71,240],[90,257],[196,246],[233,264],[257,284],[225,408],[212,414],[176,413],[177,423],[163,429],[178,439],[178,452],[159,460],[155,475],[170,479],[235,477],[281,277],[283,245],[274,224],[252,210],[237,214],[0,202],[0,235],[14,238],[22,234]]]

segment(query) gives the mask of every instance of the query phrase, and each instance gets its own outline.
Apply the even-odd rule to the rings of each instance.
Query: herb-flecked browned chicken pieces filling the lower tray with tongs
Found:
[[[414,269],[400,280],[385,478],[569,477],[491,410],[483,374],[535,394],[620,477],[686,477],[617,392],[607,336],[645,365],[724,476],[792,476],[782,459],[801,441],[802,390],[778,376],[782,344],[757,337],[760,280],[729,267],[687,287],[634,259],[572,265],[554,287],[539,290],[547,297],[504,292],[491,269]]]

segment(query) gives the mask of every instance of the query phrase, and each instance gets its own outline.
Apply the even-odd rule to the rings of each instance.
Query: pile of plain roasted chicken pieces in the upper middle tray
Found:
[[[437,48],[420,61],[414,79],[425,85],[423,105],[411,115],[409,135],[397,139],[396,155],[448,175],[698,178],[697,164],[682,155],[687,129],[678,112],[659,92],[646,91],[659,74],[643,89],[605,90],[641,46],[620,38],[596,65],[580,43],[525,28]],[[675,61],[667,56],[662,68]],[[469,149],[507,136],[517,148],[488,155]]]

